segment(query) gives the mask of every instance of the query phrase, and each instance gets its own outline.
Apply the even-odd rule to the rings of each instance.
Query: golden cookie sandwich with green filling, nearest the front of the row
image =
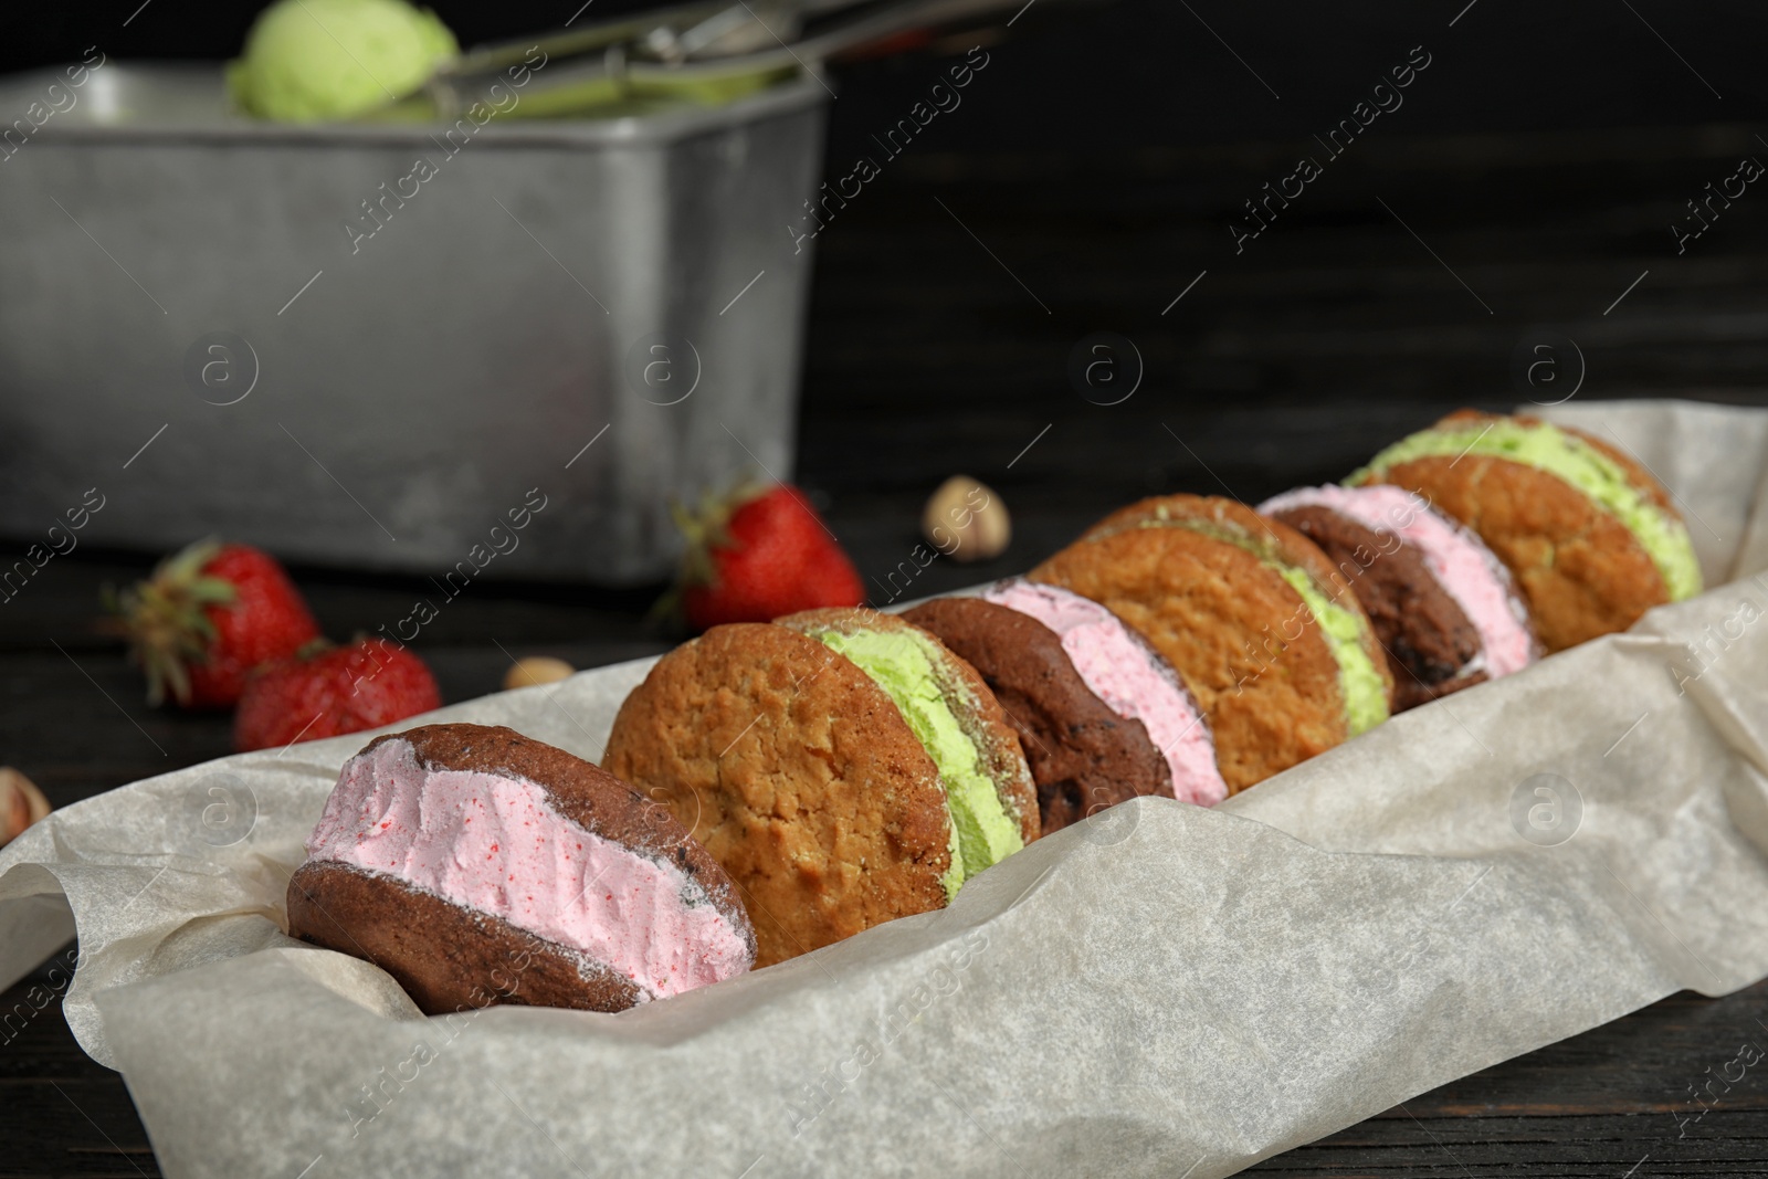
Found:
[[[941,909],[1040,831],[988,688],[872,610],[718,626],[677,647],[621,705],[603,764],[735,880],[757,965]]]

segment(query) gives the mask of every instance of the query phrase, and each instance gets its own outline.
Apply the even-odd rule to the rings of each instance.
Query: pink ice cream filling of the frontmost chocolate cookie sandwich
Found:
[[[751,965],[743,933],[675,864],[585,831],[537,783],[428,769],[405,741],[345,764],[308,856],[502,917],[624,974],[649,999]]]

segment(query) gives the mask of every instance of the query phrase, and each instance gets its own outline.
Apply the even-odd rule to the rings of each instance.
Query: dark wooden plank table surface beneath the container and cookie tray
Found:
[[[941,479],[992,483],[1015,513],[1013,548],[981,567],[935,560],[914,585],[934,594],[1020,571],[1140,495],[1257,498],[1338,477],[1446,408],[1515,405],[1531,391],[1512,382],[1512,354],[1543,327],[1584,348],[1581,396],[1761,401],[1768,203],[1740,205],[1687,256],[1665,232],[1750,136],[1370,136],[1239,256],[1223,224],[1294,145],[1077,161],[934,143],[895,161],[817,244],[797,475],[873,585],[907,559]],[[1073,343],[1101,329],[1146,361],[1123,405],[1093,405],[1064,377]],[[0,608],[0,760],[58,806],[230,751],[226,718],[145,709],[136,673],[90,629],[99,585],[149,566],[80,550]],[[334,636],[392,617],[423,587],[295,574]],[[672,636],[642,617],[652,596],[476,583],[424,628],[419,652],[444,696],[465,700],[499,688],[497,643],[576,666],[667,649]],[[0,1013],[30,985],[0,997]],[[1694,1087],[1741,1043],[1768,1045],[1768,986],[1665,999],[1261,1170],[1768,1170],[1768,1080],[1756,1069],[1688,1121]],[[122,1080],[78,1050],[58,1004],[0,1043],[0,1179],[152,1174]]]

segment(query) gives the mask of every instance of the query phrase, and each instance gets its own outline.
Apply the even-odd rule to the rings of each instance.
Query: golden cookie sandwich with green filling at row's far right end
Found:
[[[1669,493],[1618,447],[1565,426],[1460,410],[1347,483],[1407,488],[1478,532],[1515,574],[1547,650],[1701,592]]]

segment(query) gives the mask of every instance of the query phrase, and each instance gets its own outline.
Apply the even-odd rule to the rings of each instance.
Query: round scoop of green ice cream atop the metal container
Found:
[[[412,94],[456,53],[437,14],[405,0],[278,0],[228,62],[228,88],[260,118],[348,118]]]

